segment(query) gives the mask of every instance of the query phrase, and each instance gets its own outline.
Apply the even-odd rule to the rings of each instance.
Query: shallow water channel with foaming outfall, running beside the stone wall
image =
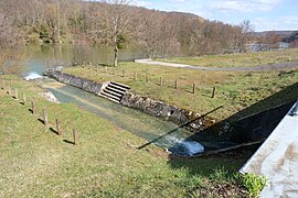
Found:
[[[190,140],[193,133],[179,128],[172,122],[145,114],[138,110],[52,79],[45,78],[41,81],[41,85],[61,102],[75,103],[159,147],[170,150],[173,154],[191,156],[198,152],[227,146],[211,141],[196,143]],[[188,141],[185,141],[187,139]],[[143,145],[139,145],[139,147],[143,147]]]

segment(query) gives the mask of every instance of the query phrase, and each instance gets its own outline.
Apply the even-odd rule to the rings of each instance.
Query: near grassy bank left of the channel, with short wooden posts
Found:
[[[231,173],[224,177],[233,177],[246,155],[183,160],[169,158],[155,146],[136,150],[145,141],[129,131],[74,105],[46,101],[33,82],[2,78],[34,99],[39,113],[0,89],[0,197],[212,197],[226,184],[232,195],[245,190],[241,183],[211,178],[223,166]],[[39,121],[44,107],[49,127]],[[55,118],[62,121],[62,136],[50,130]],[[73,128],[78,145],[65,142],[73,140]]]

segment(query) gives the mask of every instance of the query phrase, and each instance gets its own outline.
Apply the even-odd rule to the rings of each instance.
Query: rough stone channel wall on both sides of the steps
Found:
[[[103,84],[96,82],[89,79],[81,78],[71,74],[63,73],[61,70],[50,69],[45,73],[46,76],[56,79],[57,81],[71,85],[88,92],[99,95]],[[148,97],[136,95],[132,92],[126,92],[120,100],[120,105],[140,110],[147,114],[159,117],[161,119],[171,121],[178,125],[190,122],[191,120],[200,117],[198,112],[184,110],[175,106],[171,106],[163,101],[153,100]],[[215,123],[215,120],[211,118],[198,119],[194,122],[185,125],[192,131],[201,131]]]

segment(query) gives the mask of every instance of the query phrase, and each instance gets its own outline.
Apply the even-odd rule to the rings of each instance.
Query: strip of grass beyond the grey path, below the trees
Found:
[[[205,67],[249,67],[285,62],[297,62],[297,54],[298,48],[290,48],[277,52],[206,55],[200,57],[173,57],[158,61]]]

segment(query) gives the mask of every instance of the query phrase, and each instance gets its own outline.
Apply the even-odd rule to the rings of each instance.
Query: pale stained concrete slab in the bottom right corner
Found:
[[[294,116],[295,107],[240,170],[268,178],[260,197],[298,197],[298,116]]]

